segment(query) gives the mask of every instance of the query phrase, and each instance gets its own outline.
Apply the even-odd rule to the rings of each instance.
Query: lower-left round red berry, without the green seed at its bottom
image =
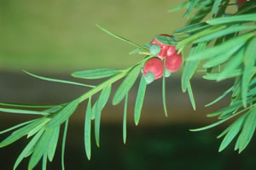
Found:
[[[158,58],[148,59],[143,69],[143,76],[145,77],[148,72],[154,74],[154,80],[163,76],[164,65]]]

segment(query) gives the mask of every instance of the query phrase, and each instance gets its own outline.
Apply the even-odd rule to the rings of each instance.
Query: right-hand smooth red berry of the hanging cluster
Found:
[[[166,70],[175,72],[183,63],[181,54],[172,54],[166,57]]]

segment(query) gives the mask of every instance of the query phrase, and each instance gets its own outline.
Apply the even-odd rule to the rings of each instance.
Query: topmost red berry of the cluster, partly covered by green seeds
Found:
[[[167,34],[160,34],[160,36],[171,37],[170,35],[167,35]],[[157,54],[157,56],[158,56],[160,59],[164,59],[164,58],[166,58],[167,55],[172,55],[172,54],[175,54],[175,53],[176,53],[175,46],[172,46],[172,45],[168,45],[168,44],[159,42],[159,41],[157,41],[156,38],[154,38],[154,39],[152,40],[151,45],[153,45],[153,44],[157,44],[157,45],[160,46],[160,53]]]

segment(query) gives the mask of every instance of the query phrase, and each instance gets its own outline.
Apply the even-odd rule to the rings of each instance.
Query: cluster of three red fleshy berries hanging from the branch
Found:
[[[171,37],[167,34],[161,34],[160,36]],[[160,52],[156,54],[158,58],[148,59],[143,69],[143,75],[148,83],[163,76],[163,59],[166,59],[166,70],[170,72],[177,71],[183,62],[182,55],[177,54],[175,46],[159,42],[154,38],[151,42],[151,46],[155,44],[160,47]]]

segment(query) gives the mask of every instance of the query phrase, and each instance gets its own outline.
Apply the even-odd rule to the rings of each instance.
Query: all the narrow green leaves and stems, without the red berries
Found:
[[[183,56],[183,75],[181,77],[182,91],[188,92],[189,99],[195,109],[195,100],[192,93],[190,80],[198,71],[199,65],[202,65],[204,79],[209,81],[223,81],[231,78],[234,80],[233,85],[228,88],[224,94],[213,100],[210,104],[213,105],[220,99],[223,99],[227,94],[231,94],[230,105],[227,105],[219,111],[208,114],[207,116],[218,116],[219,121],[207,127],[193,129],[191,131],[201,131],[219,124],[232,120],[229,127],[224,129],[218,135],[218,138],[224,138],[220,144],[219,151],[224,150],[232,140],[236,138],[235,150],[240,153],[247,147],[253,137],[256,127],[256,3],[247,1],[243,3],[234,14],[226,14],[226,9],[230,6],[236,6],[235,1],[230,0],[190,0],[180,3],[177,7],[171,8],[169,11],[180,8],[187,8],[184,17],[189,17],[187,25],[172,32],[172,38],[158,37],[161,42],[166,44],[176,45],[179,53],[183,53],[184,48],[190,47],[188,56]],[[206,16],[211,19],[206,20]],[[28,169],[36,167],[38,162],[43,159],[43,169],[46,169],[47,161],[53,161],[55,149],[59,140],[60,127],[63,124],[64,133],[62,137],[62,169],[64,169],[64,150],[67,136],[68,119],[73,115],[81,102],[88,102],[85,110],[84,120],[84,147],[85,152],[90,159],[90,138],[91,138],[91,122],[95,125],[96,145],[100,146],[100,122],[102,109],[107,104],[109,96],[112,92],[111,87],[114,82],[123,79],[119,88],[114,92],[112,99],[113,105],[118,105],[122,100],[125,100],[124,106],[124,123],[123,123],[123,139],[126,139],[126,111],[129,90],[134,82],[140,77],[140,85],[137,91],[137,99],[134,110],[134,121],[136,125],[139,122],[143,107],[143,98],[148,84],[141,73],[144,63],[154,57],[149,54],[148,43],[138,45],[124,37],[119,37],[112,32],[98,26],[102,31],[107,32],[110,36],[116,37],[119,40],[128,42],[137,49],[131,54],[143,54],[145,58],[135,65],[124,70],[116,69],[94,69],[87,71],[75,71],[73,77],[84,79],[108,79],[96,86],[88,85],[79,82],[70,82],[48,77],[40,77],[28,71],[28,75],[51,82],[69,83],[73,85],[84,86],[90,88],[85,94],[82,94],[78,99],[73,99],[61,105],[18,105],[9,103],[0,103],[4,107],[0,111],[19,114],[35,114],[41,117],[22,122],[15,127],[3,130],[2,133],[9,133],[8,138],[0,143],[0,147],[14,143],[16,140],[27,136],[30,139],[24,150],[17,158],[14,169],[19,166],[26,156],[30,156]],[[171,33],[171,32],[167,32]],[[165,71],[164,71],[165,72]],[[166,110],[166,77],[162,78],[163,106],[165,114]],[[214,82],[212,82],[214,83]],[[210,89],[209,89],[210,90]],[[150,93],[150,92],[149,92]],[[99,94],[95,103],[91,102],[92,96]],[[11,107],[12,109],[10,109]],[[13,109],[21,107],[24,109]],[[42,111],[34,111],[33,108],[41,108]]]

